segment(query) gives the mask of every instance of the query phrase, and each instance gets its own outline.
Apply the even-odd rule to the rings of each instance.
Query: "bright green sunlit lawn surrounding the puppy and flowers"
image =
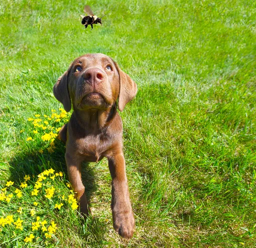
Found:
[[[92,31],[80,24],[85,3],[106,14]],[[47,211],[59,227],[53,247],[255,246],[255,16],[253,0],[0,3],[1,187],[65,172],[65,147],[41,155],[27,119],[61,107],[52,87],[75,57],[105,53],[139,87],[121,113],[134,237],[112,228],[104,159],[83,171],[93,218]],[[0,207],[1,217],[18,205]],[[2,231],[0,246],[22,247],[22,237]]]

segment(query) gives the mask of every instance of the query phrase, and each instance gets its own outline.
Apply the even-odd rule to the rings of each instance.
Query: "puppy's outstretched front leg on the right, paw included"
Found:
[[[123,153],[120,152],[109,157],[108,166],[112,177],[113,227],[120,236],[130,239],[134,234],[135,219],[130,201]]]

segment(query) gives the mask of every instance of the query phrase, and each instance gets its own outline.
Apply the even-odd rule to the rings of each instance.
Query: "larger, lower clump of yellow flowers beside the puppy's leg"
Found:
[[[56,243],[58,226],[54,214],[76,214],[74,192],[62,171],[45,169],[25,175],[21,182],[7,181],[0,191],[0,240],[24,243]]]

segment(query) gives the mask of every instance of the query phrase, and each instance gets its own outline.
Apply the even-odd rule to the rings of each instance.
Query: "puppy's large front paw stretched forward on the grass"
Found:
[[[133,211],[113,211],[113,227],[121,237],[132,238],[135,227]]]

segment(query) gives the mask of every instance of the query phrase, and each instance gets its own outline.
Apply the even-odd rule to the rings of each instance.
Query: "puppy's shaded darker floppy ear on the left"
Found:
[[[71,99],[68,92],[68,72],[69,69],[58,78],[57,82],[53,86],[54,96],[63,104],[64,109],[67,112],[71,109]]]

